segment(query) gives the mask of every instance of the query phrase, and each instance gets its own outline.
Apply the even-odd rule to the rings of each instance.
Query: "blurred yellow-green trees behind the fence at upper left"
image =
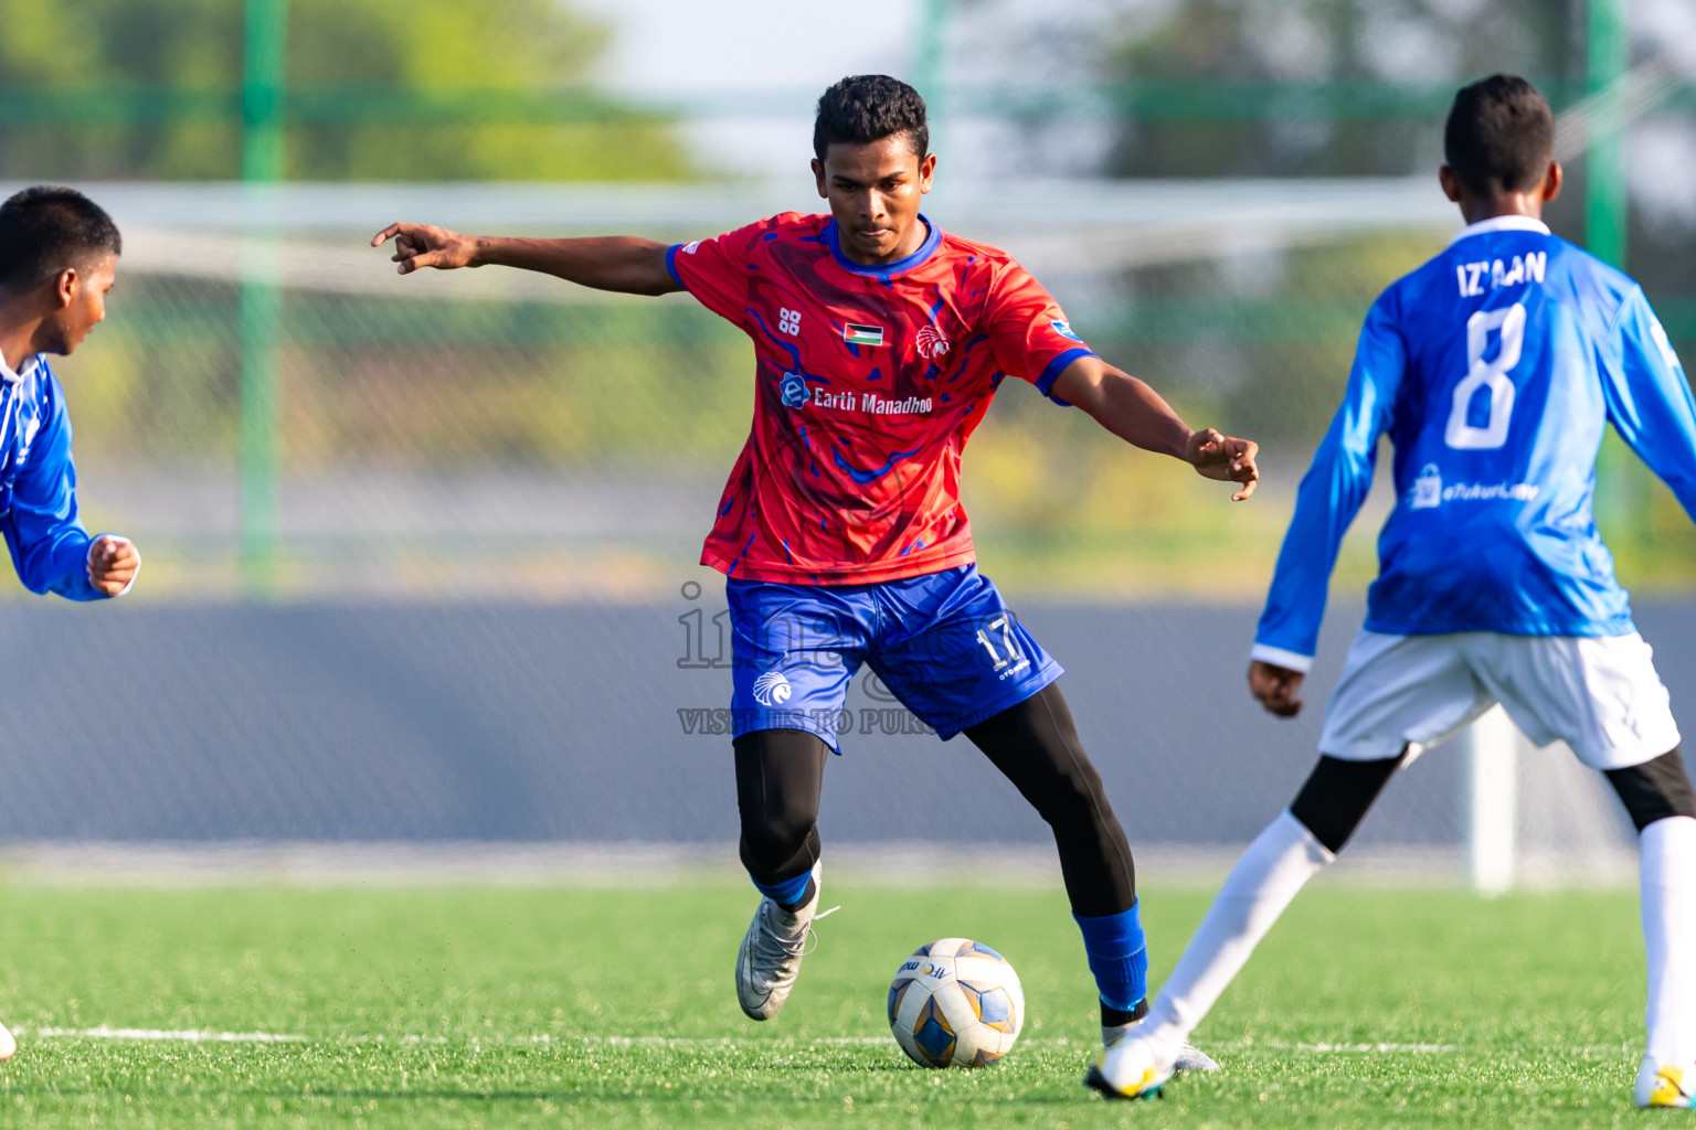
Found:
[[[0,0],[0,95],[12,103],[0,176],[241,174],[236,0]],[[592,93],[605,44],[604,27],[558,0],[293,0],[288,176],[689,176],[667,120]],[[42,93],[105,120],[42,120],[41,103],[31,120]],[[529,95],[517,110],[502,105],[514,93]],[[417,103],[439,117],[416,120]],[[365,120],[334,120],[361,108]]]

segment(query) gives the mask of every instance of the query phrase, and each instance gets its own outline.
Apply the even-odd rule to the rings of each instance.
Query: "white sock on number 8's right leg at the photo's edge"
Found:
[[[1649,1054],[1688,1071],[1696,1061],[1696,820],[1655,820],[1642,849]]]

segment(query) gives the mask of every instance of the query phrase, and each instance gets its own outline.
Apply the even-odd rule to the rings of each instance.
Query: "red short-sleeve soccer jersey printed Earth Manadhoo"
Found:
[[[1092,356],[1007,252],[934,224],[906,259],[863,266],[831,217],[785,212],[667,266],[755,346],[753,430],[700,552],[738,579],[867,584],[974,561],[967,437],[1006,374],[1048,393]]]

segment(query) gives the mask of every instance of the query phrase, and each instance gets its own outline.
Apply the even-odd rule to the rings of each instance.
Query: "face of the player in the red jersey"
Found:
[[[931,190],[936,154],[921,158],[906,134],[868,146],[836,142],[812,163],[819,195],[831,202],[843,254],[855,263],[892,263],[924,242],[919,202]]]

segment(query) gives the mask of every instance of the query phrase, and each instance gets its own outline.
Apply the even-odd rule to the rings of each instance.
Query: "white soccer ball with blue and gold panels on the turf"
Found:
[[[921,1067],[984,1067],[1013,1049],[1024,989],[982,942],[943,939],[914,950],[889,983],[889,1027]]]

